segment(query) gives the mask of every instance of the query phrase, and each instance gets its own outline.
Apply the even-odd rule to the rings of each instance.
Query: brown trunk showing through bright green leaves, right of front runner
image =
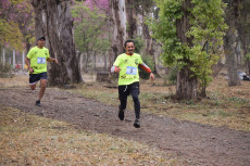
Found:
[[[182,43],[186,43],[188,47],[192,47],[192,38],[187,38],[186,33],[190,28],[189,16],[190,12],[188,9],[191,9],[191,0],[185,0],[183,2],[183,12],[184,15],[180,20],[177,21],[177,38],[180,40]],[[178,99],[198,99],[198,79],[196,75],[190,71],[192,66],[189,60],[186,60],[186,66],[184,66],[177,74],[177,84],[176,84],[176,95]]]

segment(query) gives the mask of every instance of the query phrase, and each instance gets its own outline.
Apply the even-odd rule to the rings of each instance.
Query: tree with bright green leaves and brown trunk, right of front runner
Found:
[[[226,28],[223,3],[221,0],[157,0],[157,3],[160,17],[151,27],[162,43],[164,63],[179,68],[176,95],[198,99],[198,82],[205,87],[211,81],[211,66],[216,63],[223,43]]]

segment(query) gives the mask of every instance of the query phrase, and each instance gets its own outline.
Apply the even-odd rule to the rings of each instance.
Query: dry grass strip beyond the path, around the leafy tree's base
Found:
[[[207,88],[209,98],[199,102],[176,102],[170,99],[175,93],[175,86],[163,86],[158,79],[155,86],[148,80],[140,84],[140,102],[142,112],[168,116],[179,120],[190,120],[213,126],[226,126],[236,130],[250,130],[250,81],[241,86],[228,87],[227,80],[218,76]],[[78,86],[77,93],[97,99],[103,103],[118,106],[117,89],[113,84],[92,82]],[[128,110],[133,110],[132,98],[128,98]]]

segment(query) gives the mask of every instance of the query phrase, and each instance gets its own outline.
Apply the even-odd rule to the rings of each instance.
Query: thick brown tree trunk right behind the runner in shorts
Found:
[[[73,40],[73,20],[68,0],[33,0],[36,37],[46,36],[50,55],[59,65],[49,68],[49,84],[63,86],[83,81]]]

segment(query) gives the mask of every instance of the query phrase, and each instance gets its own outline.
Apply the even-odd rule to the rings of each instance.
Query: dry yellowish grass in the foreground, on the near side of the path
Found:
[[[0,165],[179,165],[145,144],[0,108]]]

